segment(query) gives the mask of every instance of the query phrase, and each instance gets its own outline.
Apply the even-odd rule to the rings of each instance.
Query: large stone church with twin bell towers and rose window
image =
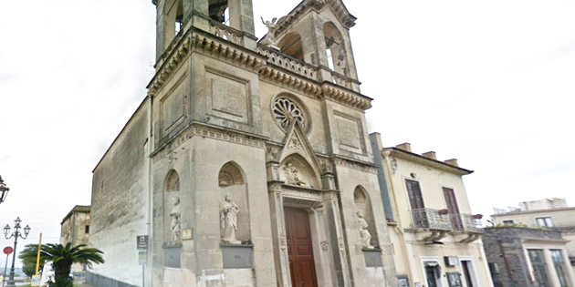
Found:
[[[345,5],[304,0],[258,42],[251,0],[152,2],[156,73],[93,170],[88,282],[395,286]]]

